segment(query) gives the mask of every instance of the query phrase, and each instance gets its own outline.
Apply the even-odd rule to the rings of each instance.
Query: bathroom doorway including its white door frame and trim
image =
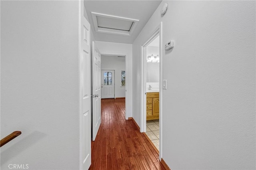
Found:
[[[162,23],[161,23],[162,24]],[[141,127],[159,151],[161,159],[161,24],[142,45]]]

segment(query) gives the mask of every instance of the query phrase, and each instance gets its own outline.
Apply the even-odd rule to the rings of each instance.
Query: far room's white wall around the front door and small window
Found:
[[[125,70],[125,57],[102,55],[101,70],[115,71],[115,98],[125,97],[125,87],[121,87],[121,71]]]

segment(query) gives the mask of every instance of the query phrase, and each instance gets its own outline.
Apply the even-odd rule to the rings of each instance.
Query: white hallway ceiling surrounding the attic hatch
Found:
[[[133,43],[162,0],[85,0],[84,5],[96,41]],[[140,20],[131,36],[95,32],[91,12]],[[160,15],[160,12],[159,12]]]

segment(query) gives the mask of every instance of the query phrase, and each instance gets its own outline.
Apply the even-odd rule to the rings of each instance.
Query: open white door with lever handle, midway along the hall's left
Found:
[[[92,140],[95,140],[101,123],[100,61],[100,52],[92,42]]]

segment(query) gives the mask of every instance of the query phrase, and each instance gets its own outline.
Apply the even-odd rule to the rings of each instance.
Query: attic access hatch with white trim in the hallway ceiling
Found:
[[[140,20],[91,12],[96,32],[131,36]]]

